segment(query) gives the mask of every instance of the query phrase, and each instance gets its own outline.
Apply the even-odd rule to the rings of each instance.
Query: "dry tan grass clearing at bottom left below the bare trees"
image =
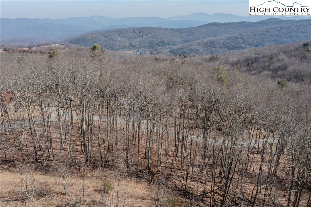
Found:
[[[100,180],[114,183],[110,196],[118,194],[119,206],[151,206],[152,195],[150,183],[138,178],[126,178],[116,171],[90,169],[86,177],[84,197],[81,192],[80,167],[74,166],[68,182],[67,195],[63,194],[62,180],[53,171],[53,166],[44,165],[36,169],[36,193],[33,198],[25,199],[22,185],[13,163],[2,163],[1,166],[1,206],[65,206],[70,200],[77,199],[81,206],[102,206],[99,193]],[[38,172],[38,171],[45,171]],[[102,177],[104,175],[104,177]],[[117,192],[118,191],[118,192]],[[125,196],[125,201],[124,201]]]

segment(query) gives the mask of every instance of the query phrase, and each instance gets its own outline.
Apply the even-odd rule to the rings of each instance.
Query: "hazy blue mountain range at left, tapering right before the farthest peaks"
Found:
[[[158,17],[128,17],[112,19],[104,16],[72,17],[68,19],[4,19],[1,18],[2,44],[38,44],[44,41],[60,41],[86,32],[112,30],[139,26],[193,27],[209,21],[169,20]],[[31,39],[30,39],[31,38]]]

